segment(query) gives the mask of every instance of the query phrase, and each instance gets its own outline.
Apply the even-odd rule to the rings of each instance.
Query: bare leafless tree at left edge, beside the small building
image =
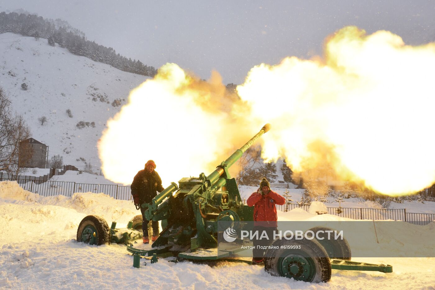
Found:
[[[29,137],[29,127],[22,116],[13,112],[10,100],[0,87],[0,170],[15,177],[27,170],[20,164],[31,157],[32,151],[26,147],[20,149],[20,143]]]

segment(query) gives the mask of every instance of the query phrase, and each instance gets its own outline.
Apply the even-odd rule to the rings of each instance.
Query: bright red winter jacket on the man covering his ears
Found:
[[[278,217],[275,204],[284,203],[284,197],[272,190],[264,195],[256,191],[246,201],[249,207],[254,206],[254,225],[262,227],[277,227]]]

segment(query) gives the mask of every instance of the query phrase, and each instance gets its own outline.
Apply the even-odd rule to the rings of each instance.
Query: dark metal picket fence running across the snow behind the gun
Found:
[[[50,181],[33,179],[7,179],[0,178],[0,181],[11,180],[33,193],[43,197],[64,195],[71,197],[76,192],[104,193],[118,200],[131,200],[131,190],[129,186],[117,184],[92,184],[76,183],[68,181]],[[246,204],[246,200],[243,200]],[[301,208],[308,211],[309,204],[304,203],[285,203],[277,205],[277,209],[283,212]],[[328,213],[339,217],[347,217],[354,220],[404,220],[408,223],[426,225],[435,221],[435,213],[407,213],[405,209],[385,209],[385,208],[354,208],[354,207],[328,207]]]

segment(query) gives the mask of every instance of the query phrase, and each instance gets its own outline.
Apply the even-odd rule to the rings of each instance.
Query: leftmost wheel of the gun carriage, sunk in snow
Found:
[[[77,229],[77,242],[100,246],[109,241],[109,226],[103,218],[90,215],[81,220]]]

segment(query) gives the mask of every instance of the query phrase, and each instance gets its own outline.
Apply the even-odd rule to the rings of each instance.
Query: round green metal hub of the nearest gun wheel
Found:
[[[316,274],[313,259],[303,250],[283,254],[278,259],[278,273],[281,277],[293,278],[297,281],[311,282]]]

